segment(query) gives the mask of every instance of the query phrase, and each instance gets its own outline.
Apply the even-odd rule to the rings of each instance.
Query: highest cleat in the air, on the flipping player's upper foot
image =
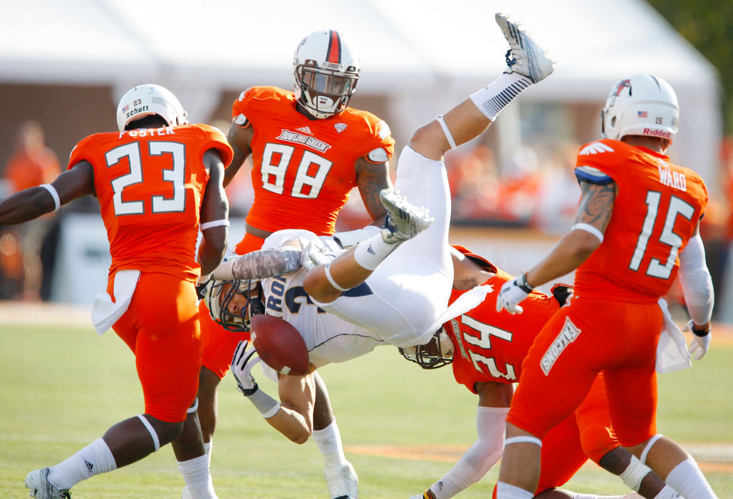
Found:
[[[501,12],[496,13],[496,23],[509,42],[507,72],[526,76],[532,83],[537,83],[552,74],[555,70],[555,61],[550,59],[548,52],[542,50],[519,23],[512,23],[509,21],[509,16]]]

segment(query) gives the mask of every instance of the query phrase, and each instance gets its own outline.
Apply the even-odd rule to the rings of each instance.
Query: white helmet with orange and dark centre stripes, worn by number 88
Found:
[[[295,98],[319,120],[342,112],[359,79],[358,54],[334,29],[303,38],[292,59]]]

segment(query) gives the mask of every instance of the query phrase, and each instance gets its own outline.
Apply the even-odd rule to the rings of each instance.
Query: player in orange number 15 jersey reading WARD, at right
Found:
[[[655,423],[663,321],[657,302],[678,271],[692,316],[690,352],[699,359],[710,346],[712,283],[699,235],[707,189],[696,172],[664,154],[679,125],[677,95],[666,81],[649,74],[620,80],[601,116],[605,138],[578,154],[575,225],[498,296],[497,310],[521,313],[535,285],[577,269],[570,306],[542,329],[523,365],[507,416],[498,497],[533,495],[542,438],[603,371],[614,430],[635,456],[630,479],[646,462],[682,497],[715,498],[694,459]]]

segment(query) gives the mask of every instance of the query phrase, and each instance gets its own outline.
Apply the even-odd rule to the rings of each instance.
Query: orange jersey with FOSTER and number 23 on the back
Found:
[[[217,128],[180,125],[94,134],[71,152],[69,169],[94,167],[95,193],[109,238],[110,274],[121,269],[195,280],[199,211],[209,175],[202,158],[232,147]]]

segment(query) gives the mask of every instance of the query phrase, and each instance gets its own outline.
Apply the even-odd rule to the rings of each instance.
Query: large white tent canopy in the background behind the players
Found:
[[[0,81],[111,84],[118,98],[155,81],[207,120],[222,91],[292,84],[292,52],[336,28],[361,53],[358,92],[390,96],[412,130],[504,68],[494,12],[509,12],[558,61],[521,101],[593,102],[616,80],[654,73],[679,97],[679,163],[714,180],[721,137],[714,68],[640,0],[28,0],[0,16]],[[39,14],[43,12],[43,14]]]

